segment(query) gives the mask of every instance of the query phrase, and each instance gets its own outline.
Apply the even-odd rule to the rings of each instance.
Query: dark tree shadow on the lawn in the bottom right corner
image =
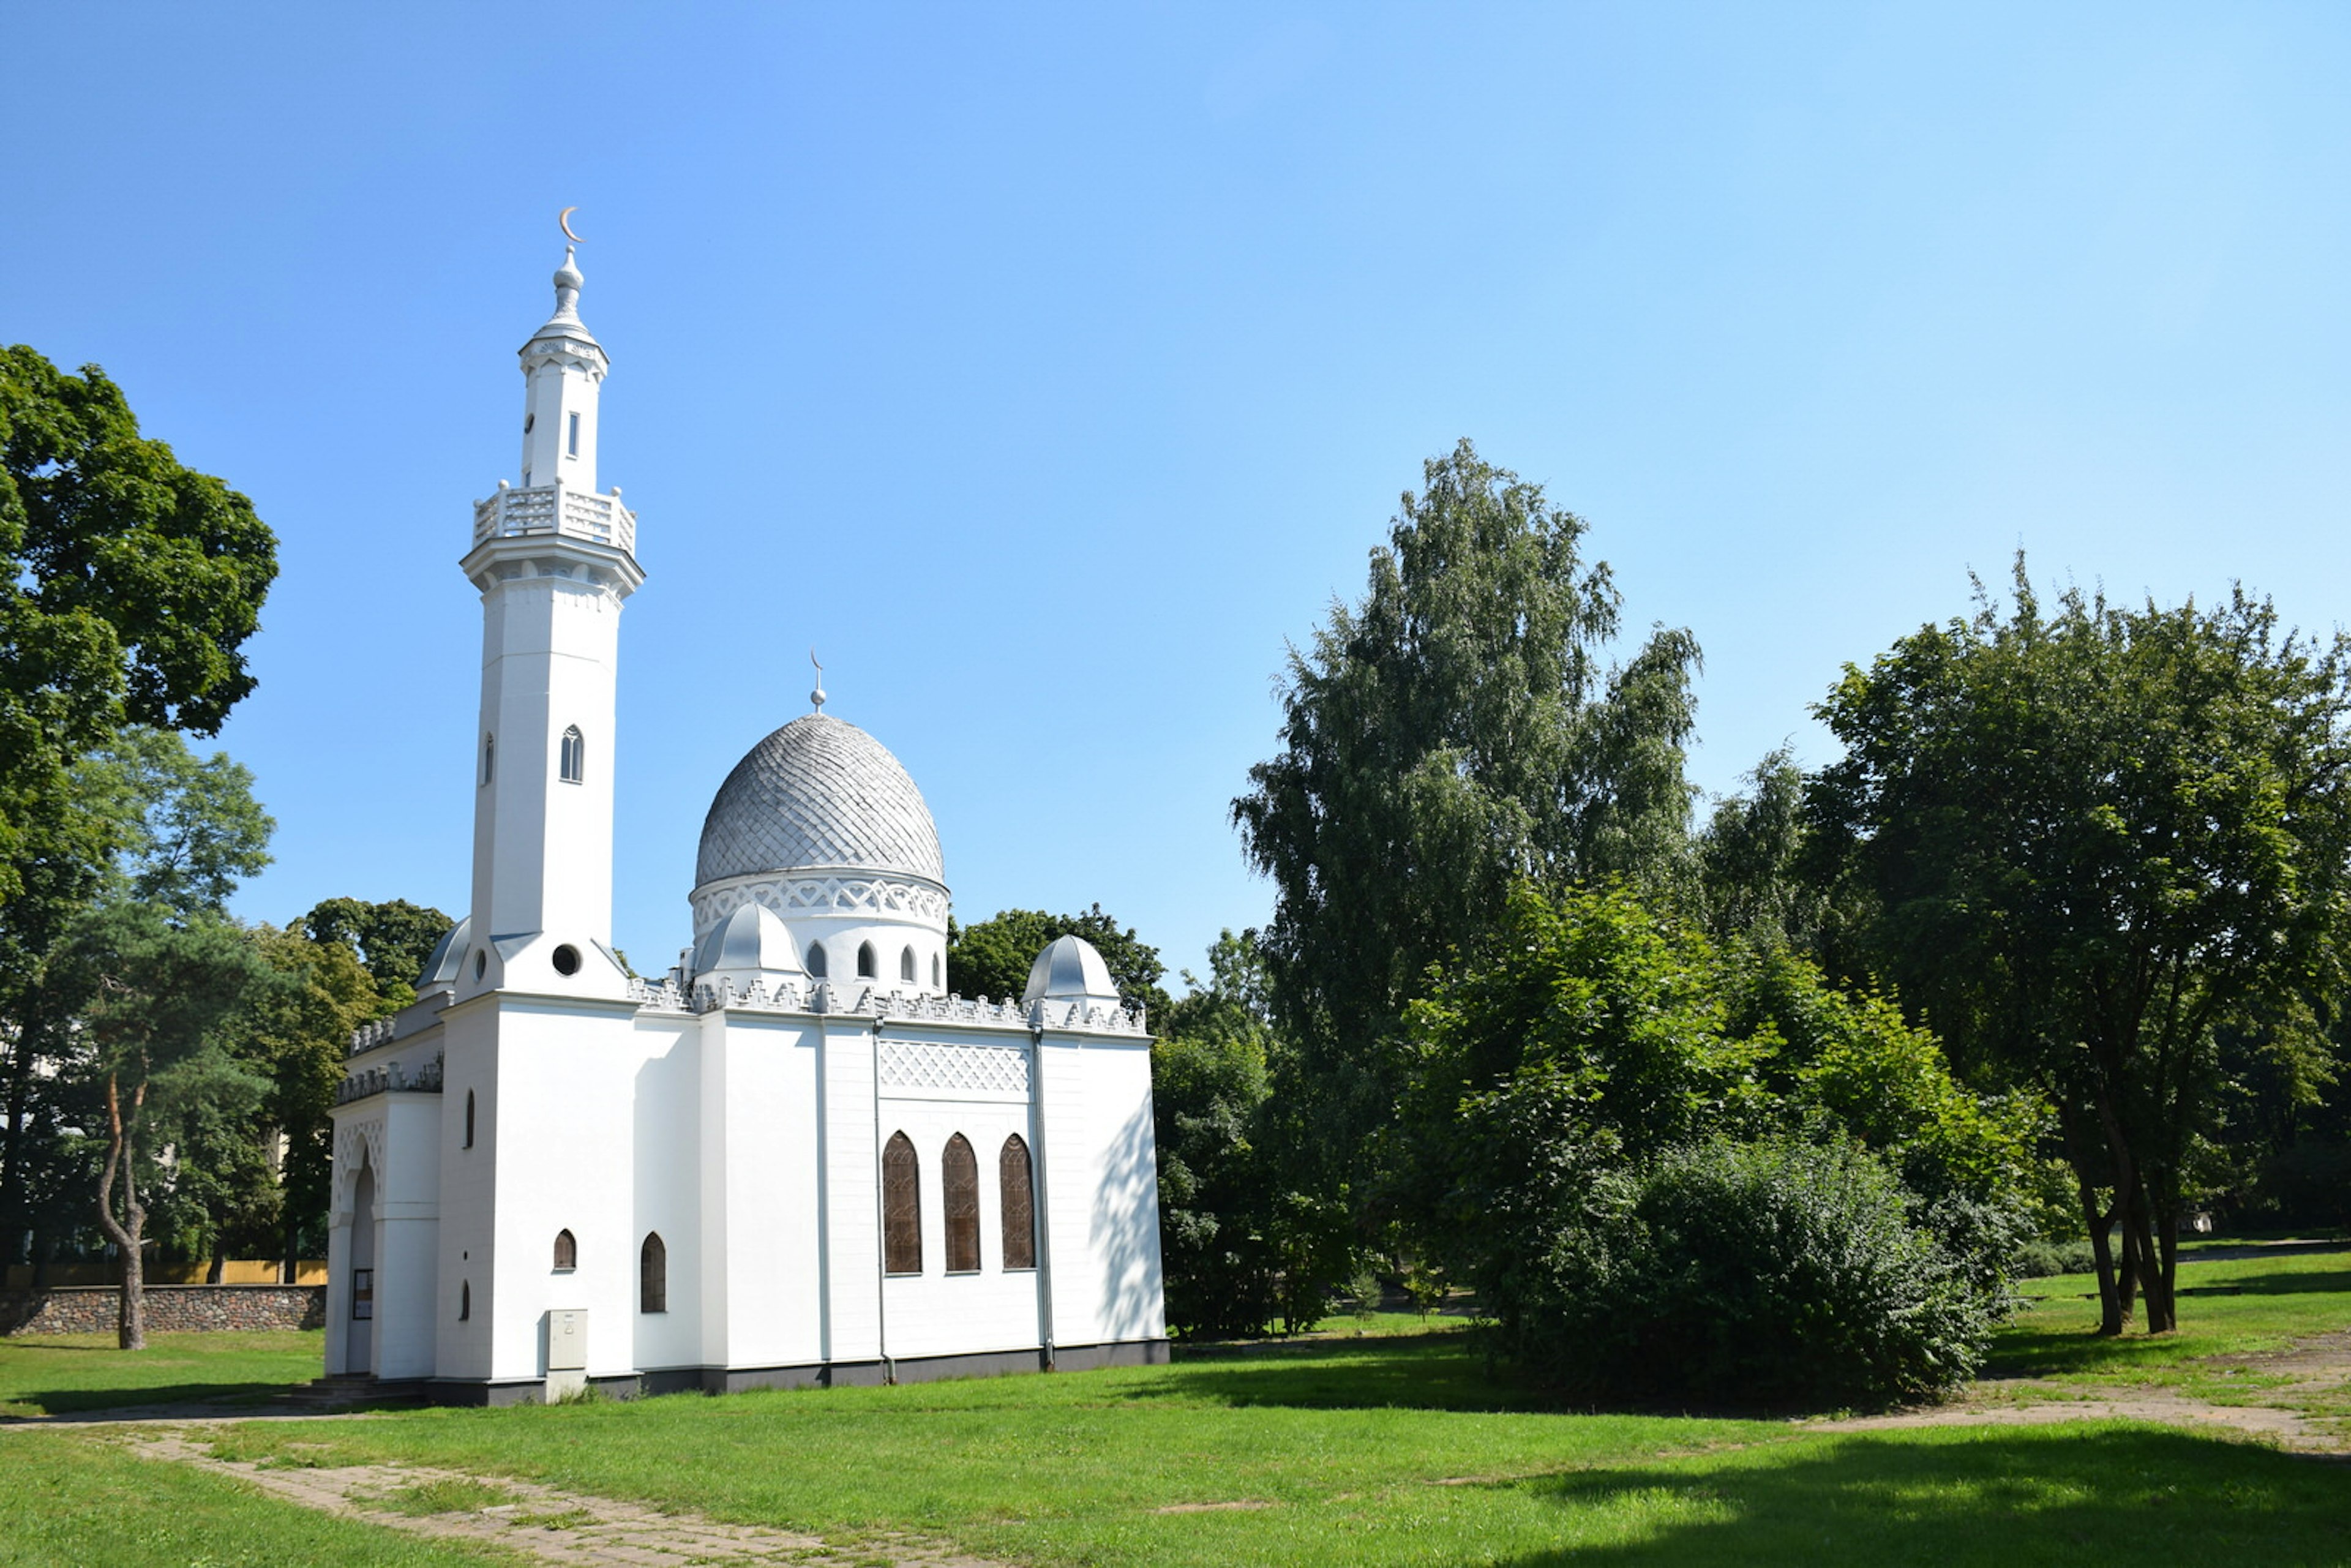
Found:
[[[2351,1561],[2342,1462],[2114,1422],[1773,1443],[1495,1486],[1639,1535],[1512,1568]]]

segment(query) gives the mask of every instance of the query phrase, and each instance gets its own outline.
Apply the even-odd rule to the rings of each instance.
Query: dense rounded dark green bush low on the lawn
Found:
[[[2008,1309],[1850,1143],[1702,1143],[1594,1171],[1554,1215],[1486,1302],[1505,1359],[1585,1399],[1935,1399]]]

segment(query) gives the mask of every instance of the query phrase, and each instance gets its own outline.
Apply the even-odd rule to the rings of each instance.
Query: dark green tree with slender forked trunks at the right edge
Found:
[[[2351,644],[2243,590],[2043,609],[2022,555],[2012,595],[1846,670],[1817,851],[1961,1067],[2057,1107],[2102,1328],[2144,1291],[2161,1333],[2226,1032],[2342,994]]]

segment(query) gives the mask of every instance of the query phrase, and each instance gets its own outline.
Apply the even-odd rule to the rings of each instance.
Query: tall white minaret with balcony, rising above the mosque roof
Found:
[[[564,249],[555,315],[522,346],[522,484],[473,508],[482,590],[473,755],[473,952],[456,994],[625,994],[611,957],[614,677],[621,602],[644,581],[637,517],[597,494],[609,360]]]

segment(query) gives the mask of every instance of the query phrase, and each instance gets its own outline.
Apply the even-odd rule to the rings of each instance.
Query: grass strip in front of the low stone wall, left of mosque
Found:
[[[118,1349],[110,1333],[0,1340],[0,1415],[73,1415],[146,1403],[259,1403],[324,1368],[320,1328],[150,1333]]]

